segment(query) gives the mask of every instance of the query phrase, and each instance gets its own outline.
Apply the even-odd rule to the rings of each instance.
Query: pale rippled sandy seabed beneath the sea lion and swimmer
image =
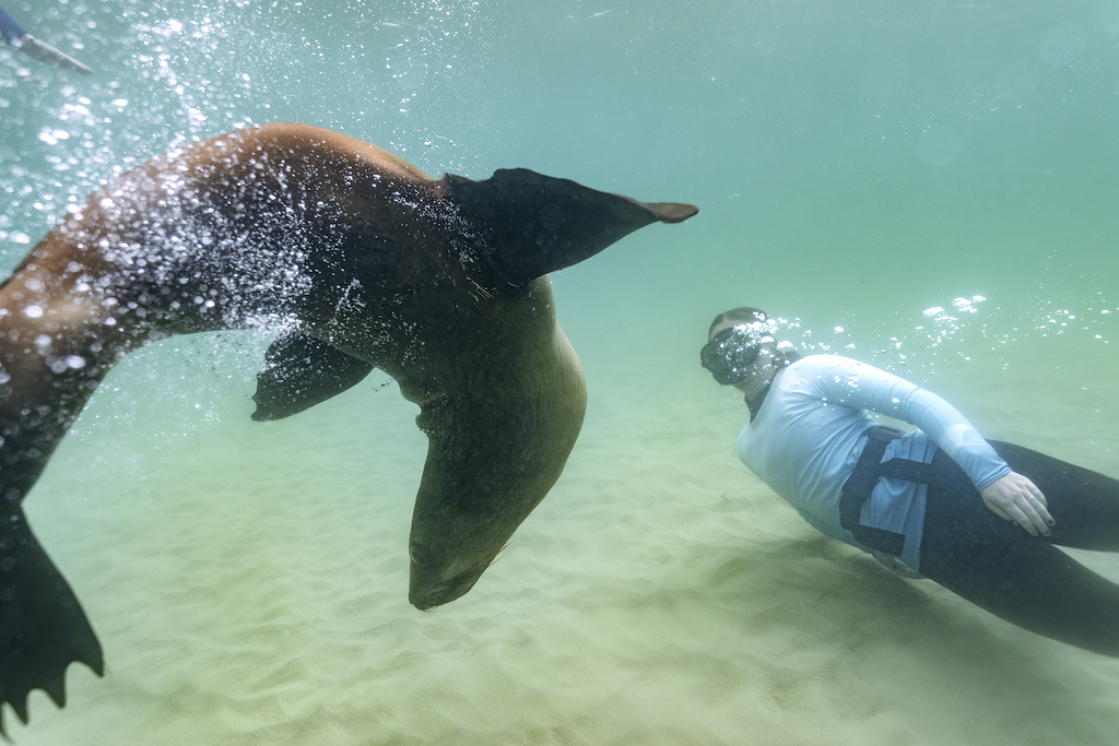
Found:
[[[147,379],[173,365],[144,355],[27,502],[107,669],[73,667],[65,709],[34,693],[27,727],[9,710],[20,746],[1113,739],[1119,661],[815,535],[736,461],[745,408],[698,369],[666,396],[655,369],[587,366],[561,481],[473,591],[422,613],[426,442],[395,386],[261,425],[248,381],[196,369],[168,398]]]

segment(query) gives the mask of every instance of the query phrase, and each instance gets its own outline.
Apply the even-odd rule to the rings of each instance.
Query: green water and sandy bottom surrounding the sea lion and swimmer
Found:
[[[2,1],[96,70],[0,47],[4,272],[120,170],[266,122],[700,208],[553,275],[582,436],[431,612],[392,379],[258,424],[265,332],[130,356],[25,503],[106,676],[7,711],[21,746],[1113,740],[1119,661],[816,535],[698,349],[758,305],[1119,476],[1119,1]]]

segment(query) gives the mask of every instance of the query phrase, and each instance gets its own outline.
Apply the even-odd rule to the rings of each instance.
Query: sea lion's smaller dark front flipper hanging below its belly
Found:
[[[253,419],[281,419],[309,409],[360,383],[375,366],[307,334],[281,334],[256,374]]]

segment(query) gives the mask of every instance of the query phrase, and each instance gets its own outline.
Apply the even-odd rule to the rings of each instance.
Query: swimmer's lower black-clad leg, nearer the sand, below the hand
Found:
[[[1119,657],[1119,585],[995,516],[938,460],[947,478],[929,489],[921,574],[1025,630]]]

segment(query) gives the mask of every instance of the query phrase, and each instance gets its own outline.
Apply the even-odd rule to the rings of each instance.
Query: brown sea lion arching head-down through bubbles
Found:
[[[156,158],[93,193],[0,285],[0,703],[62,707],[103,671],[21,500],[105,374],[151,340],[280,327],[254,417],[304,409],[374,367],[430,438],[408,598],[470,589],[560,476],[586,405],[548,272],[696,208],[524,169],[434,180],[395,155],[273,124]]]

